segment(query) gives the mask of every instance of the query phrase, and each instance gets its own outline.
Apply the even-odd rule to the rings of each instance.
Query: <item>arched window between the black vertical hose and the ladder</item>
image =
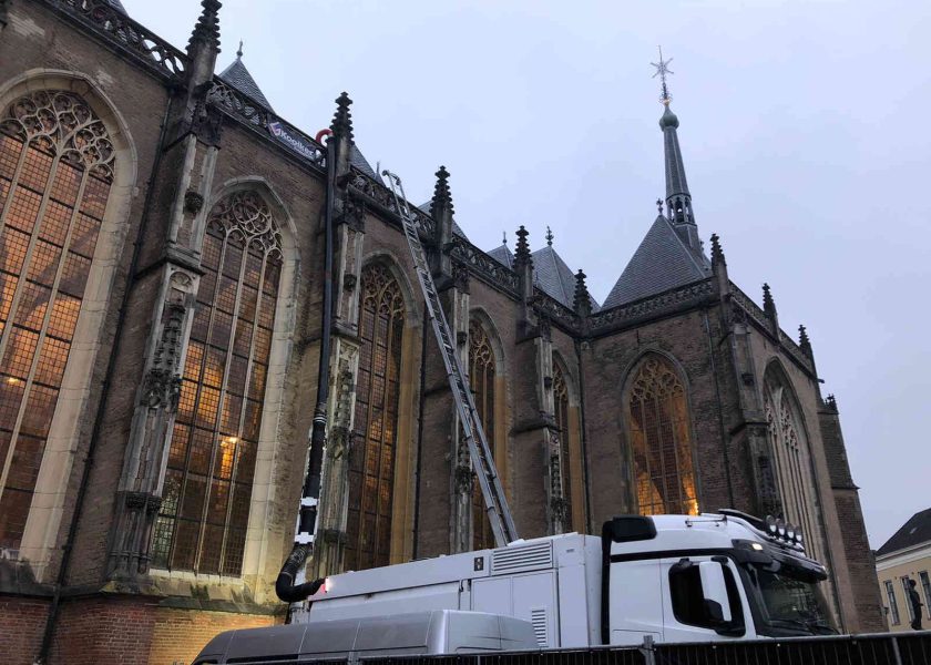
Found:
[[[398,395],[405,300],[381,264],[362,270],[359,381],[349,454],[347,570],[386,565],[391,556],[391,503],[398,432]]]

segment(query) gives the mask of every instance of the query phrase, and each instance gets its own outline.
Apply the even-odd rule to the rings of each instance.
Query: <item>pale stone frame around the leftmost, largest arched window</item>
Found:
[[[62,376],[59,399],[49,427],[45,450],[35,480],[32,503],[20,544],[37,580],[45,581],[64,519],[68,483],[82,436],[89,436],[98,351],[103,346],[104,323],[113,306],[111,296],[135,195],[139,156],[129,124],[106,93],[88,74],[37,68],[0,84],[0,109],[32,92],[63,90],[80,96],[103,122],[113,144],[113,184],[106,201],[88,284],[72,336],[71,352]],[[85,431],[86,430],[86,431]]]

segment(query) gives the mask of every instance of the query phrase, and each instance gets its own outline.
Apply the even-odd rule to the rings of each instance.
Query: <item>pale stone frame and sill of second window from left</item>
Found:
[[[246,543],[243,550],[243,566],[239,575],[216,573],[195,573],[193,571],[151,567],[153,577],[171,582],[197,584],[223,584],[235,589],[250,589],[256,602],[273,597],[270,584],[274,582],[282,563],[287,556],[286,541],[290,533],[282,538],[275,526],[282,523],[276,516],[280,493],[287,493],[280,479],[288,474],[287,453],[291,446],[306,446],[300,438],[285,441],[278,437],[282,417],[286,410],[286,399],[290,395],[285,383],[289,376],[289,364],[294,347],[297,317],[298,280],[300,278],[300,254],[297,245],[297,226],[294,216],[278,195],[274,185],[258,175],[233,177],[214,186],[209,201],[206,202],[194,219],[193,242],[200,254],[206,234],[206,219],[214,207],[227,196],[237,192],[250,191],[260,195],[272,211],[272,216],[280,233],[282,273],[278,278],[278,297],[275,307],[275,324],[272,334],[272,350],[268,354],[268,368],[263,401],[262,423],[259,424],[256,463],[253,474],[249,516],[246,526]],[[196,285],[195,285],[196,289]],[[187,359],[190,337],[185,336],[184,349],[178,366],[184,367]],[[168,442],[166,442],[167,444]],[[291,524],[285,519],[284,528]],[[267,584],[264,584],[267,583]]]

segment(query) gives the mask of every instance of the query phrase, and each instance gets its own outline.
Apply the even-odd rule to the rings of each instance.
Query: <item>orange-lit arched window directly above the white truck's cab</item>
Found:
[[[641,514],[697,514],[688,399],[658,354],[647,355],[634,374],[627,422]]]

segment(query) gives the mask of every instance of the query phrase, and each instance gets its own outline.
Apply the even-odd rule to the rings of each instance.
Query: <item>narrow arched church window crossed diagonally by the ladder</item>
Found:
[[[475,399],[479,420],[482,423],[488,447],[494,452],[494,350],[491,340],[481,325],[472,320],[469,323],[469,386]],[[491,531],[485,513],[484,497],[478,478],[472,479],[472,549],[483,550],[494,546],[494,534]]]

